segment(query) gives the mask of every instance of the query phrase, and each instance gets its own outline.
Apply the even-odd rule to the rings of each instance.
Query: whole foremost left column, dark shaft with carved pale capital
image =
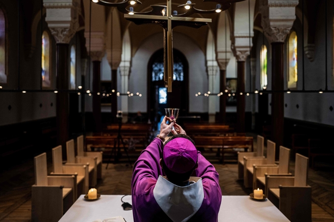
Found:
[[[46,8],[45,21],[54,36],[56,49],[57,73],[57,144],[63,146],[63,157],[66,157],[68,139],[68,90],[69,88],[69,41],[79,28],[79,0],[43,0]]]

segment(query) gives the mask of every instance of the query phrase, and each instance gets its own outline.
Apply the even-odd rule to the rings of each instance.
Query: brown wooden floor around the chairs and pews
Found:
[[[219,173],[223,195],[248,195],[242,181],[237,181],[236,162],[222,165],[213,154],[206,155]],[[51,171],[51,153],[47,153]],[[103,180],[97,186],[100,194],[131,194],[132,167],[126,162],[103,164]],[[292,164],[291,170],[294,170]],[[31,186],[34,183],[33,158],[0,172],[0,221],[31,221]],[[312,186],[312,221],[334,222],[334,171],[309,170],[308,184]]]

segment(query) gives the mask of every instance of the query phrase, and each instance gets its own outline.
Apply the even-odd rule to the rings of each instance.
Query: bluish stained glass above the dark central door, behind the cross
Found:
[[[184,74],[183,74],[183,63],[180,58],[174,57],[174,81],[183,81]],[[159,57],[153,63],[152,67],[152,81],[161,81],[164,80],[164,59],[163,57]]]

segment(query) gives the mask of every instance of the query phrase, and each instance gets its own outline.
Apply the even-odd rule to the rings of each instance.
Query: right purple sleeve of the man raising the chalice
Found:
[[[198,153],[198,162],[199,167],[195,170],[195,174],[197,177],[202,178],[204,191],[204,199],[200,211],[205,212],[200,215],[205,215],[205,221],[207,222],[216,222],[218,221],[218,213],[222,201],[219,175],[215,167],[200,152]]]

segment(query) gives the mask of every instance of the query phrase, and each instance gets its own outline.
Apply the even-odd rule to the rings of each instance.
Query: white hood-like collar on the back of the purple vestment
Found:
[[[173,222],[188,221],[202,205],[204,199],[202,179],[190,177],[189,180],[195,183],[180,187],[160,175],[153,190],[158,205]]]

